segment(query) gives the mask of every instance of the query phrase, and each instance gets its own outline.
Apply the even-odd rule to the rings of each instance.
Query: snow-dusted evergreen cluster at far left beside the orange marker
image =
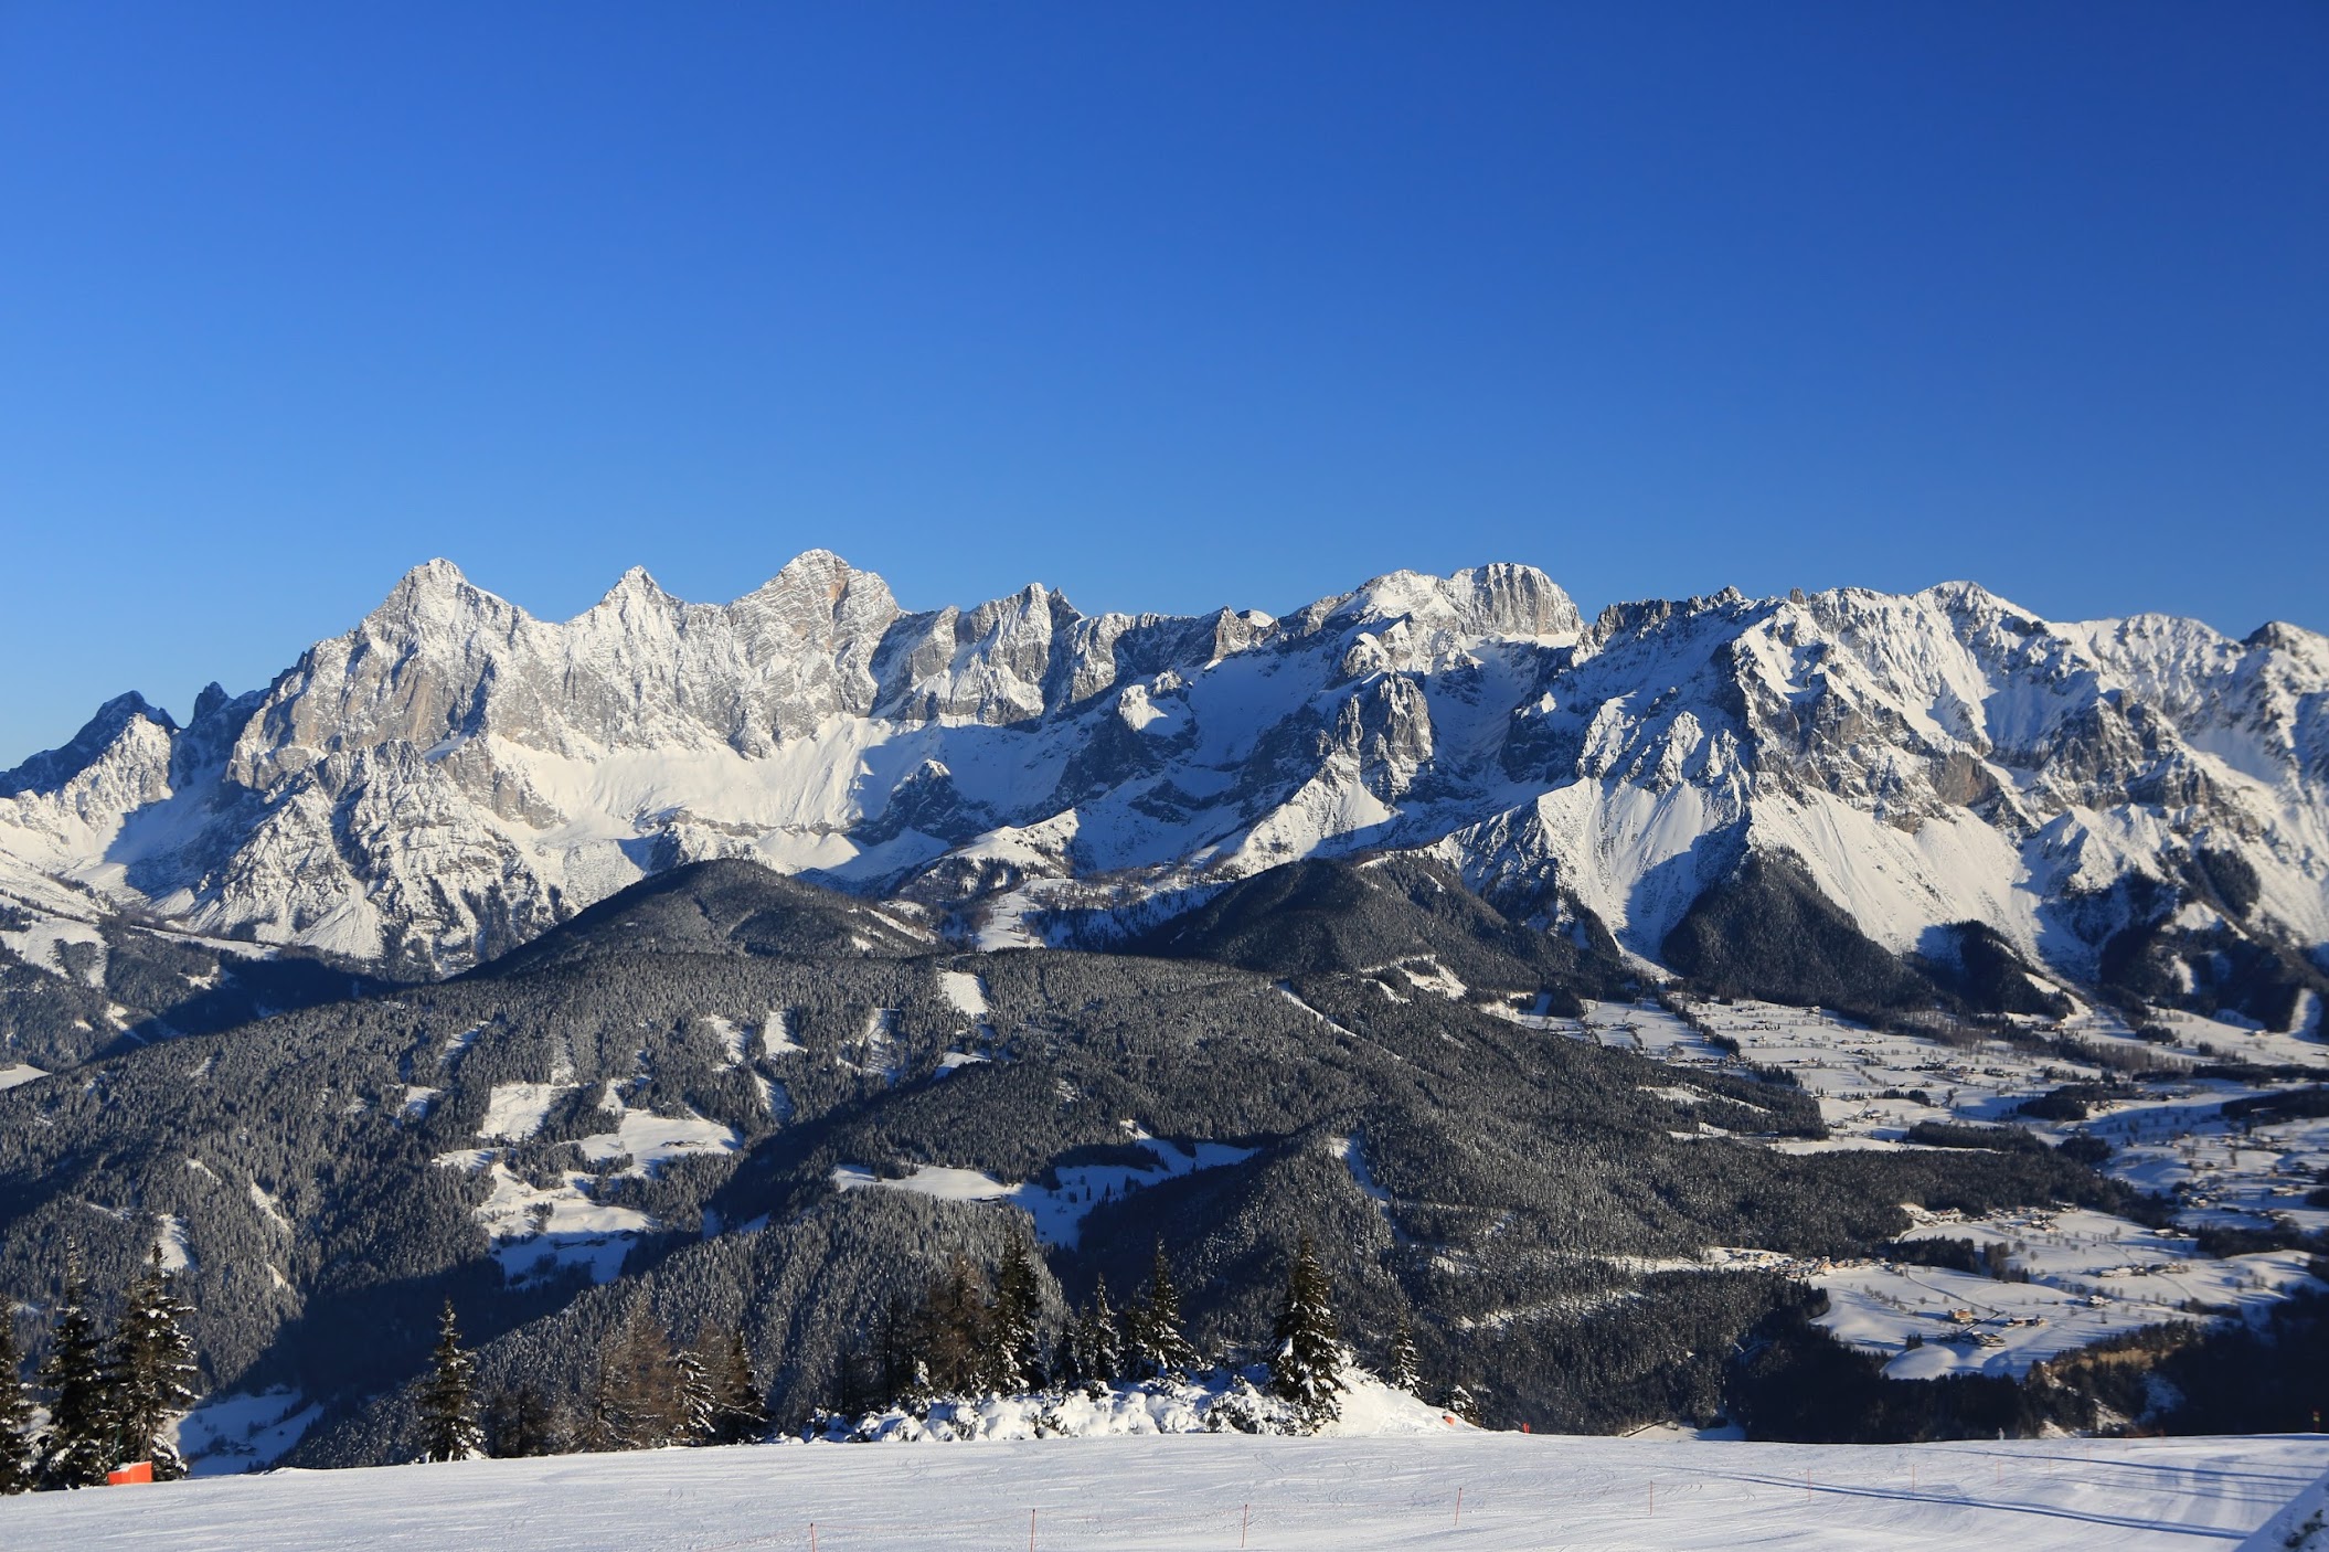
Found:
[[[186,1303],[161,1247],[130,1282],[112,1333],[89,1303],[79,1247],[65,1247],[65,1286],[37,1384],[47,1422],[33,1426],[14,1321],[0,1319],[0,1494],[100,1487],[116,1466],[149,1461],[156,1482],[186,1475],[170,1426],[200,1394],[200,1354]]]

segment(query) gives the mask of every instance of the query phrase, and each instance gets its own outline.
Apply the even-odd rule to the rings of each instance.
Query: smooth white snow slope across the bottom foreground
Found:
[[[1917,1447],[1519,1433],[745,1445],[37,1494],[0,1501],[0,1545],[866,1552],[1020,1547],[1032,1531],[1041,1550],[1109,1552],[2229,1550],[2324,1470],[2324,1435]]]

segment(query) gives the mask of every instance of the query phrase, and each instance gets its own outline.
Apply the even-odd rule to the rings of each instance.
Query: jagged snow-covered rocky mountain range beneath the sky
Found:
[[[2329,639],[2057,625],[1968,583],[1586,622],[1514,564],[1283,618],[1041,585],[913,613],[822,550],[727,606],[631,571],[550,622],[431,562],[261,692],[184,725],[126,694],[0,774],[33,960],[133,913],[440,974],[713,855],[985,946],[1090,941],[1372,851],[1649,965],[1784,876],[1896,955],[1977,920],[2040,979],[2303,1025]]]

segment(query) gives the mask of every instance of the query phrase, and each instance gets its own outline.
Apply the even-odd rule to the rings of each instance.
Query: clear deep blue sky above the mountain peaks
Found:
[[[2329,5],[0,0],[0,764],[810,545],[2324,629]]]

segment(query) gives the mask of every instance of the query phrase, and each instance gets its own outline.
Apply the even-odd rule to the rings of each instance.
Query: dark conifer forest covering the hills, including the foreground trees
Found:
[[[1537,1431],[1991,1435],[2124,1401],[2101,1363],[1882,1380],[1796,1279],[1656,1270],[1889,1254],[1903,1205],[2164,1221],[2091,1154],[1758,1147],[1821,1137],[1814,1100],[1740,1065],[1693,1070],[1677,1112],[1668,1067],[1481,1004],[1644,995],[1591,939],[1546,955],[1470,895],[1425,911],[1446,881],[1416,865],[1307,867],[1332,911],[1272,879],[1267,909],[1216,902],[1139,953],[962,955],[699,865],[452,981],[0,1095],[0,1482],[175,1473],[196,1396],[272,1387],[317,1408],[296,1466],[845,1438],[1199,1377],[1218,1426],[1307,1428],[1346,1363]],[[1467,995],[1383,972],[1402,946]],[[2159,1366],[2192,1340],[2164,1331]],[[2192,1426],[2245,1417],[2182,1394]]]

